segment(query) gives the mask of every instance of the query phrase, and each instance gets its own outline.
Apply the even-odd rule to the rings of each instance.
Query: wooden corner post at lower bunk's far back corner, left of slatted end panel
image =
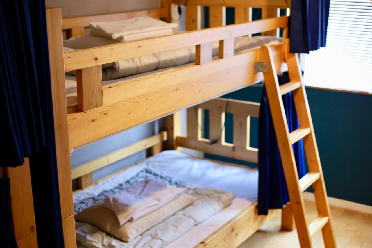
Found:
[[[165,150],[180,150],[176,144],[177,136],[181,135],[181,112],[164,117],[164,128],[167,131],[168,139],[164,142]]]

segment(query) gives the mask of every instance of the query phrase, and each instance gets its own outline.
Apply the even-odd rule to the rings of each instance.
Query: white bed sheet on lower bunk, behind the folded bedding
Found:
[[[229,191],[235,196],[247,199],[250,202],[257,200],[257,169],[221,165],[209,160],[194,158],[176,150],[169,150],[158,153],[106,181],[74,194],[74,202],[93,197],[104,190],[116,187],[145,167],[154,168],[170,177],[185,181],[189,187],[209,186]]]

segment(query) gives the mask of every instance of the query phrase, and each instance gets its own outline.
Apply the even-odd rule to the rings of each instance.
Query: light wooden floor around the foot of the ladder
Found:
[[[309,223],[317,216],[315,203],[305,201]],[[337,247],[372,247],[372,215],[331,206],[331,218]],[[259,231],[248,238],[239,248],[248,247],[299,247],[296,230],[280,231],[278,214],[265,223]],[[314,248],[324,247],[322,233],[312,238]]]

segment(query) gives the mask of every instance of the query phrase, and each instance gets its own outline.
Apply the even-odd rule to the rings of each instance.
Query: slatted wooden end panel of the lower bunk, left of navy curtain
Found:
[[[258,149],[250,147],[250,117],[259,116],[260,104],[256,102],[230,100],[227,112],[234,115],[234,143],[226,143],[224,130],[225,106],[227,99],[217,98],[187,109],[187,137],[176,137],[177,146],[199,150],[206,153],[221,155],[228,158],[258,162]],[[201,110],[209,110],[209,139],[201,137]],[[218,140],[219,139],[219,140]],[[209,142],[218,140],[210,145]]]

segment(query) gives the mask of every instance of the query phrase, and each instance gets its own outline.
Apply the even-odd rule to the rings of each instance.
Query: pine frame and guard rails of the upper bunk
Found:
[[[223,6],[288,7],[285,1],[269,1],[265,6],[259,2],[188,1],[186,12],[194,5],[211,6],[211,9]],[[260,49],[234,53],[234,38],[277,28],[283,28],[286,34],[288,27],[288,17],[281,16],[63,54],[62,29],[71,35],[79,29],[81,32],[93,20],[121,20],[141,15],[166,18],[167,8],[63,20],[59,9],[49,9],[47,13],[54,21],[48,22],[48,28],[56,38],[49,37],[49,53],[58,58],[52,74],[63,86],[65,72],[76,70],[78,75],[78,108],[73,113],[66,112],[70,149],[262,81],[262,73],[255,73],[255,63],[261,60]],[[217,58],[212,58],[212,42],[216,41],[219,42],[219,53]],[[102,64],[189,46],[196,48],[193,64],[102,87]],[[286,70],[285,47],[283,43],[271,46],[278,72]],[[61,85],[59,90],[62,90]]]

